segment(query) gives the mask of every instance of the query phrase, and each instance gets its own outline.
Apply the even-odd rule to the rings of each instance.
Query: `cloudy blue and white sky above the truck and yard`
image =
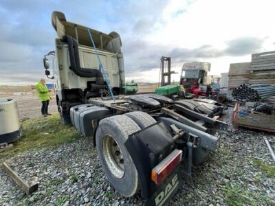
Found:
[[[275,50],[274,8],[273,0],[1,0],[0,84],[44,76],[42,58],[56,36],[53,10],[67,21],[118,32],[126,80],[158,82],[161,56],[170,56],[177,72],[184,62],[206,61],[219,74],[232,62],[249,62],[252,53]]]

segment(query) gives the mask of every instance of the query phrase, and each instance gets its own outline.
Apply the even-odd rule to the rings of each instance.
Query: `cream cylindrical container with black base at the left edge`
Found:
[[[22,126],[16,100],[0,99],[0,144],[22,137]]]

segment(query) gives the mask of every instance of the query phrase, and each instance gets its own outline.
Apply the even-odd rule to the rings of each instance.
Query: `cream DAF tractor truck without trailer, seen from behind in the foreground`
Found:
[[[118,33],[104,34],[70,23],[53,12],[57,32],[54,56],[56,104],[65,124],[94,137],[102,170],[122,196],[141,193],[147,205],[165,205],[186,174],[217,149],[213,102],[173,101],[154,93],[124,95],[124,61]],[[111,87],[111,90],[109,88]],[[115,98],[113,98],[115,95]]]

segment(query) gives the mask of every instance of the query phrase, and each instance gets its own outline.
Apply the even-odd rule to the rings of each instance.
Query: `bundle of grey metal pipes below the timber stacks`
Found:
[[[241,84],[232,96],[241,102],[259,102],[275,95],[275,84]]]

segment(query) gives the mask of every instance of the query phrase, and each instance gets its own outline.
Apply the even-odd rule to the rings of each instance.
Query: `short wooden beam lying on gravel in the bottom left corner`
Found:
[[[8,175],[11,176],[12,179],[17,183],[17,185],[22,187],[26,194],[31,194],[32,192],[35,192],[39,189],[39,184],[37,182],[32,181],[31,185],[28,185],[28,183],[23,181],[23,179],[21,179],[21,177],[16,172],[14,172],[7,163],[3,162],[2,167],[3,170],[5,170],[5,172],[7,172]]]

